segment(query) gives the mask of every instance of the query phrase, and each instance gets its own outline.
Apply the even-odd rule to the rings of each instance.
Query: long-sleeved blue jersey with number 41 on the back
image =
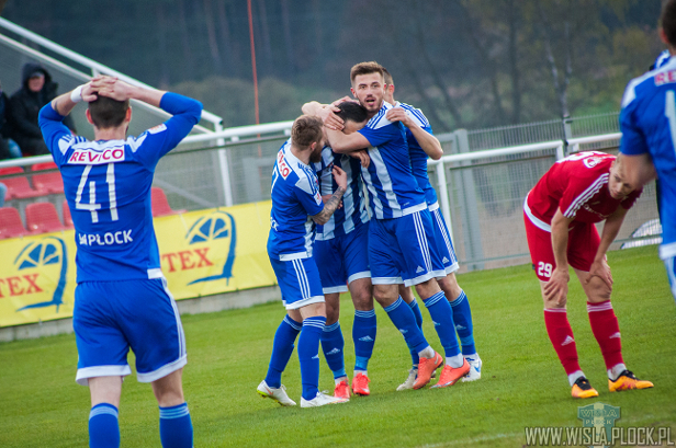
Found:
[[[126,140],[72,137],[52,104],[40,127],[64,179],[75,223],[77,282],[161,277],[150,186],[159,159],[198,124],[202,104],[165,93],[164,124]]]

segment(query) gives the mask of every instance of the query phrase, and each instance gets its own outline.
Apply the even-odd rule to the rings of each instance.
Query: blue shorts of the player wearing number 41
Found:
[[[165,278],[79,284],[72,328],[78,384],[131,375],[129,348],[140,382],[164,378],[187,363],[185,334]]]

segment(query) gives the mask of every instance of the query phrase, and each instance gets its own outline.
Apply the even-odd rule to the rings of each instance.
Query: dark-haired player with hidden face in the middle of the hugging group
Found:
[[[318,103],[307,103],[304,113],[313,112]],[[347,101],[336,106],[346,134],[356,133],[369,120],[367,110],[359,103]],[[369,156],[361,151],[364,163]],[[331,174],[333,166],[340,166],[348,175],[348,187],[342,196],[342,208],[336,210],[329,221],[317,226],[314,257],[326,299],[326,326],[322,334],[324,356],[334,372],[335,397],[349,398],[350,387],[345,371],[345,340],[338,322],[340,292],[348,288],[354,305],[352,341],[354,342],[354,375],[352,392],[369,395],[368,366],[375,344],[376,320],[373,309],[373,287],[369,268],[369,211],[361,180],[361,160],[348,154],[338,154],[330,147],[322,150],[322,161],[315,163],[323,197],[330,197],[338,184]],[[346,286],[347,285],[347,286]]]

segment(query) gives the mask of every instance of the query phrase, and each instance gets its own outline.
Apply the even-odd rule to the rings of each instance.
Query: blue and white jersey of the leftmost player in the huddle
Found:
[[[315,236],[311,216],[324,209],[315,170],[291,152],[291,139],[272,169],[272,210],[268,254],[280,261],[308,259]]]

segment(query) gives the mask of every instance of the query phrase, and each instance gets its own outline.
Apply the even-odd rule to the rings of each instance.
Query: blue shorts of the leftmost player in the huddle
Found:
[[[322,280],[314,257],[285,261],[270,257],[270,264],[282,290],[282,302],[288,310],[324,302]]]

